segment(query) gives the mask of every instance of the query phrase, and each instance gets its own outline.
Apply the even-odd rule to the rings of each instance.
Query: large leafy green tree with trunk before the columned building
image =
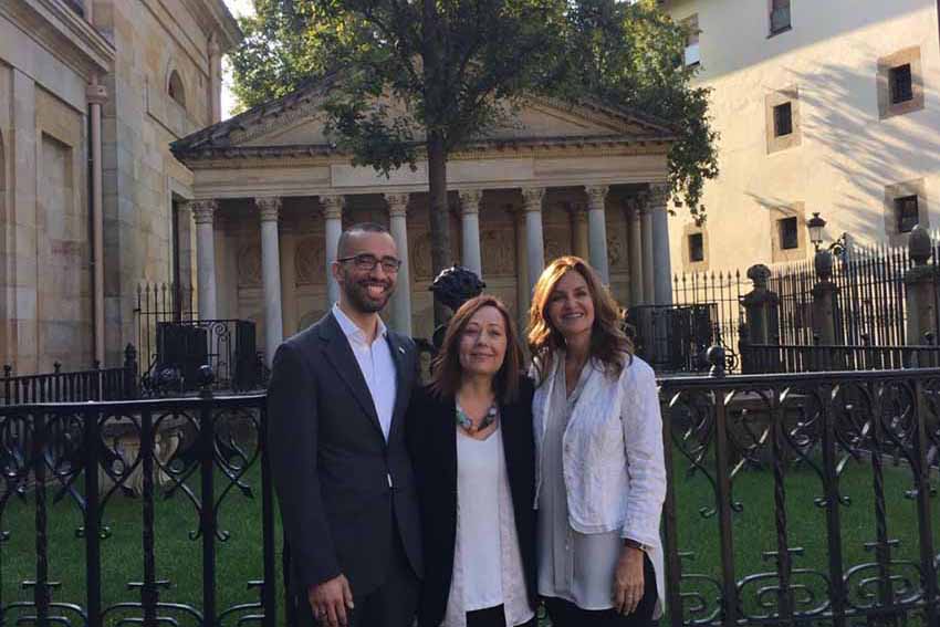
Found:
[[[427,158],[434,270],[452,262],[447,158],[526,93],[587,94],[669,122],[670,182],[696,216],[717,174],[707,92],[682,65],[686,32],[656,0],[255,0],[231,56],[253,106],[330,81],[327,129],[388,174]]]

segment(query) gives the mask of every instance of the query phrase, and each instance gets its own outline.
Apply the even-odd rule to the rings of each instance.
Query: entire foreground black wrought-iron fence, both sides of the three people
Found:
[[[940,368],[672,377],[660,403],[665,624],[940,625]],[[264,425],[263,395],[0,408],[30,433],[0,448],[2,621],[292,624]]]

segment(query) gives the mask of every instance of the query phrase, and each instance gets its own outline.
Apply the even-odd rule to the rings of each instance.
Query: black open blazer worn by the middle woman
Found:
[[[408,407],[407,437],[415,464],[425,585],[418,607],[420,627],[438,627],[447,610],[457,535],[457,427],[453,397],[416,390]],[[529,603],[535,607],[535,442],[532,435],[532,383],[520,380],[518,399],[500,404],[506,474],[515,513]],[[494,527],[497,529],[497,527]]]

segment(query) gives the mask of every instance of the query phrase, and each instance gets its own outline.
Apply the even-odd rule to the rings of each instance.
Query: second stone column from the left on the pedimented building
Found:
[[[283,339],[281,315],[281,259],[278,242],[278,219],[281,198],[255,198],[261,216],[261,283],[264,288],[264,360],[271,365],[274,352]]]

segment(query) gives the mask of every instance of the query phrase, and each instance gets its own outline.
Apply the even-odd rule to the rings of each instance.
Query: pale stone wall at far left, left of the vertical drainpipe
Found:
[[[0,18],[0,362],[92,362],[85,79]]]

